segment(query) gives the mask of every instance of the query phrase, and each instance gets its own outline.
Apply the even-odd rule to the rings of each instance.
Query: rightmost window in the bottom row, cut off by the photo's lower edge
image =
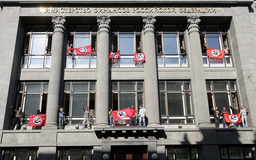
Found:
[[[251,147],[220,147],[221,159],[254,159]]]

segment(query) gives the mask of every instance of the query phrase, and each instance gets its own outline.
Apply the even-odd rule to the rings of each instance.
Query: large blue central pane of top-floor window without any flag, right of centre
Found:
[[[163,34],[164,54],[178,54],[177,35]]]

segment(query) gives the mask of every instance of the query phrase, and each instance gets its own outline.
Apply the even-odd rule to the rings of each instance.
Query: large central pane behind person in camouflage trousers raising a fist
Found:
[[[83,116],[82,104],[87,104],[88,93],[72,93],[71,116]]]

